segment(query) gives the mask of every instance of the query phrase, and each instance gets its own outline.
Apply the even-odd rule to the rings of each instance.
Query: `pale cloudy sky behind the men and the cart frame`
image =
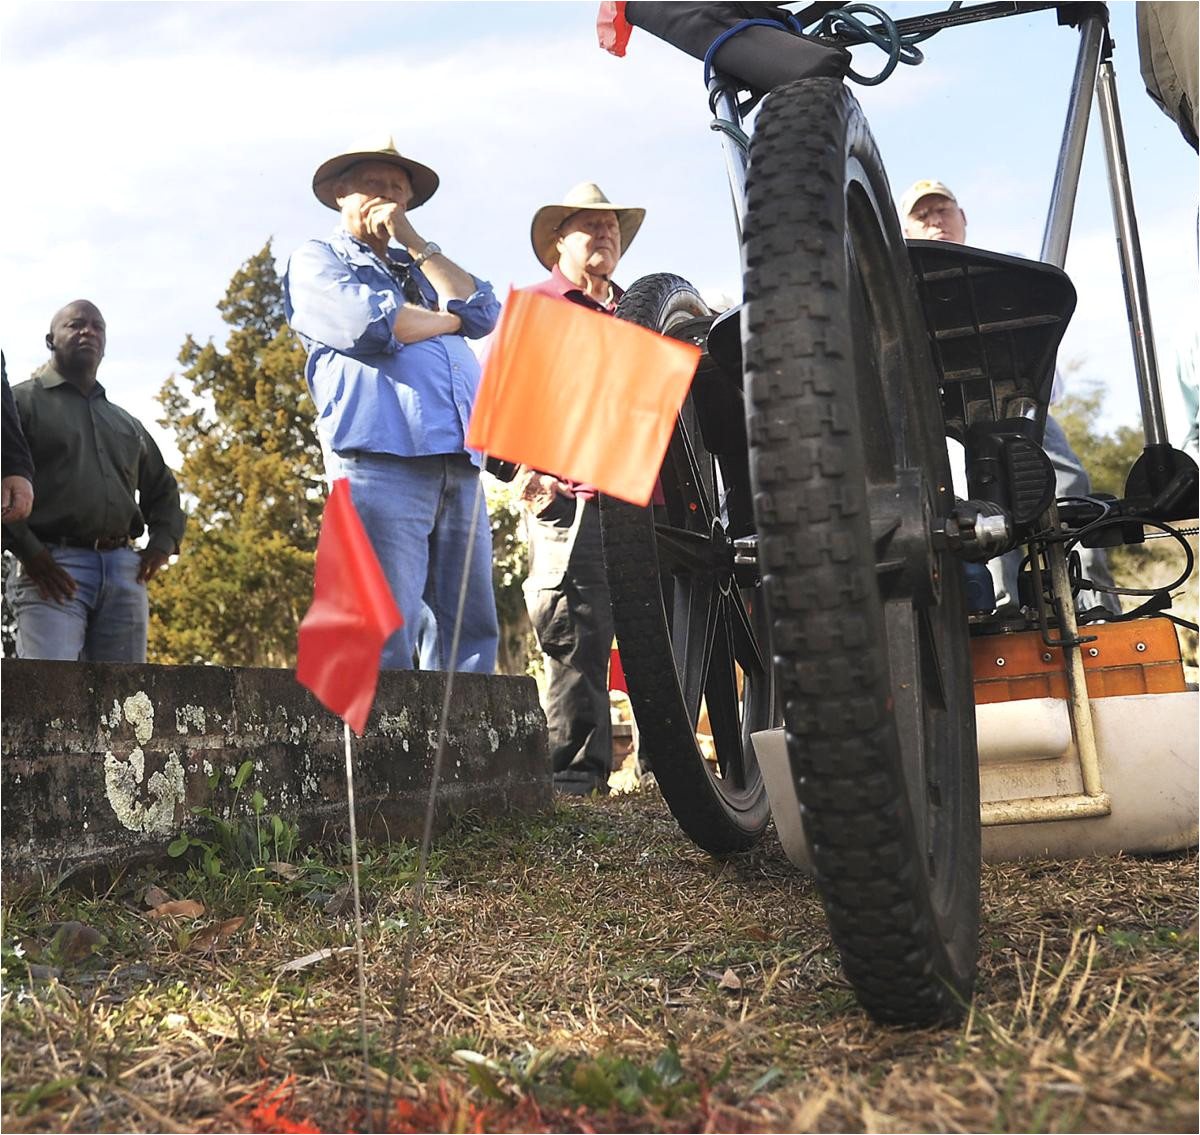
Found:
[[[890,4],[898,14],[940,5]],[[1196,162],[1145,96],[1133,4],[1111,5],[1122,112],[1159,358],[1194,326]],[[643,205],[622,263],[709,295],[739,294],[728,190],[701,65],[644,32],[614,59],[586,2],[37,2],[2,8],[5,155],[0,342],[10,379],[46,358],[50,314],[86,296],[108,319],[101,378],[152,425],[154,394],[191,334],[224,341],[216,302],[266,240],[281,266],[335,215],[313,169],[394,133],[442,188],[418,230],[510,283],[544,275],[534,210],[576,181]],[[856,88],[899,196],[918,178],[959,194],[970,240],[1036,253],[1078,37],[1052,13],[946,32],[926,61]],[[859,49],[862,70],[878,53]],[[1093,115],[1068,272],[1080,293],[1063,359],[1108,388],[1105,422],[1136,424],[1103,149]],[[1164,380],[1169,414],[1177,400]],[[1176,418],[1172,437],[1183,430]]]

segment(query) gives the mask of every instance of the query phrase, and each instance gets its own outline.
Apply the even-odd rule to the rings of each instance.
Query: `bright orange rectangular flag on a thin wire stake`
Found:
[[[467,444],[644,505],[698,362],[692,343],[509,292]]]

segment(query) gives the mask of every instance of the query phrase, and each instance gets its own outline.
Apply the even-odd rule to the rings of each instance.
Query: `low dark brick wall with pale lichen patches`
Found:
[[[194,807],[296,822],[304,841],[347,827],[341,719],[292,671],[2,662],[0,866],[6,879],[157,859]],[[414,837],[424,824],[445,674],[385,672],[354,738],[360,833]],[[245,761],[250,780],[232,782]],[[216,786],[212,787],[212,781]],[[551,800],[546,721],[532,678],[458,674],[438,821]]]

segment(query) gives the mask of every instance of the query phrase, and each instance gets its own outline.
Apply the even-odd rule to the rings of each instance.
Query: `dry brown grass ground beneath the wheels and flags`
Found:
[[[412,867],[396,847],[364,867],[376,1105]],[[10,895],[4,1130],[360,1123],[354,953],[280,969],[353,942],[328,901],[344,877],[308,859],[294,878]],[[203,901],[196,927],[246,921],[198,949],[188,920],[145,917],[150,882]],[[962,1026],[928,1032],[857,1008],[820,902],[773,837],[718,863],[653,791],[460,824],[426,896],[395,1106],[374,1130],[1198,1127],[1190,855],[988,869],[978,996]],[[61,935],[47,948],[49,924],[70,919],[104,936],[98,949]],[[32,980],[31,961],[60,977]],[[740,987],[721,987],[727,971]]]

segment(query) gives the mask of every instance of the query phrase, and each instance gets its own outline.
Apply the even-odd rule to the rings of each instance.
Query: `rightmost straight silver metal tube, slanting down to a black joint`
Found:
[[[1141,398],[1141,427],[1147,445],[1168,445],[1170,443],[1158,382],[1154,331],[1150,323],[1150,300],[1146,295],[1146,269],[1141,259],[1138,217],[1133,209],[1133,186],[1129,182],[1129,161],[1126,156],[1124,133],[1121,130],[1121,108],[1117,104],[1116,72],[1109,60],[1100,64],[1096,90],[1099,97],[1100,130],[1104,133],[1104,155],[1109,164],[1112,223],[1117,230],[1117,251],[1121,254],[1121,282],[1124,284],[1129,337],[1133,340],[1133,366],[1138,376],[1138,395]]]

